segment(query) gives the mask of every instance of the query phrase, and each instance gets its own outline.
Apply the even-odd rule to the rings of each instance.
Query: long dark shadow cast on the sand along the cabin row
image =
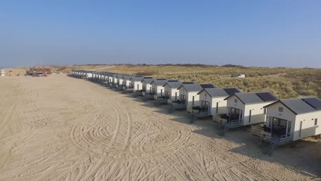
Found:
[[[92,81],[90,81],[92,82]],[[115,92],[121,92],[116,88],[110,88],[107,84],[101,84],[93,82],[93,84],[99,84],[103,88],[112,90]],[[169,105],[154,106],[154,100],[143,101],[142,96],[134,96],[134,93],[124,94],[126,97],[137,101],[141,106],[148,108],[157,108],[154,112],[161,114],[174,115],[176,118],[170,119],[178,123],[191,124],[190,114],[185,110],[176,110],[175,112],[169,113]],[[259,146],[259,141],[256,137],[250,133],[250,128],[243,130],[243,128],[232,129],[226,132],[224,137],[219,136],[219,126],[210,118],[198,119],[193,125],[198,126],[200,129],[193,131],[195,134],[200,134],[209,138],[225,139],[227,141],[237,143],[239,147],[228,150],[235,154],[242,154],[253,159],[264,160],[267,162],[273,162],[281,164],[287,169],[294,171],[294,173],[300,173],[306,176],[315,176],[316,180],[320,179],[321,176],[321,142],[313,141],[313,138],[308,138],[302,141],[296,141],[296,146],[291,147],[290,144],[276,147],[272,156],[266,156],[263,154],[263,147],[267,146],[267,143],[263,143],[263,147]]]

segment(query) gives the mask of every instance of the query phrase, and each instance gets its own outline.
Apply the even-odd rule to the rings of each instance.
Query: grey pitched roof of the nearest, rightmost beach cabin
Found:
[[[320,101],[320,100],[318,99],[318,101]],[[313,108],[310,104],[307,104],[307,102],[304,101],[303,99],[281,99],[281,100],[275,101],[272,104],[269,104],[268,106],[272,106],[278,102],[280,102],[285,107],[287,107],[289,110],[294,112],[294,114],[304,114],[307,112],[318,111],[318,109]],[[320,103],[321,103],[321,101],[320,101]],[[268,106],[265,106],[265,108]]]

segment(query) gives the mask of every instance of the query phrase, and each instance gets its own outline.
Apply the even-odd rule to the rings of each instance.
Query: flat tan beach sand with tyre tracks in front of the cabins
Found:
[[[320,180],[320,141],[265,156],[248,132],[221,138],[212,121],[86,80],[0,86],[0,180]]]

